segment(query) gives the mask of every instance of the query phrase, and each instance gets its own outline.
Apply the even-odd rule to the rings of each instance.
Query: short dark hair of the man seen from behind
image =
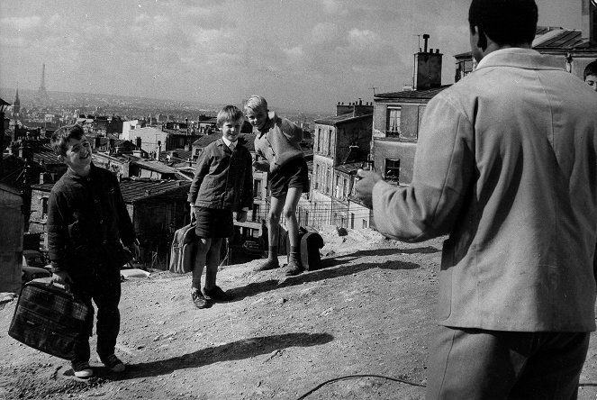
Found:
[[[535,0],[473,0],[468,9],[471,32],[475,26],[499,45],[531,43],[537,32]]]

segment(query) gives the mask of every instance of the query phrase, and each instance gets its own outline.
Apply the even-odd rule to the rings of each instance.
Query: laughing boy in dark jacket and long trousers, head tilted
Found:
[[[120,268],[128,254],[138,255],[138,241],[127,213],[118,180],[91,162],[91,146],[78,125],[54,132],[51,146],[68,166],[50,192],[48,247],[52,281],[79,296],[92,310],[97,306],[97,354],[107,368],[122,372],[114,355],[120,331],[118,303]],[[122,248],[124,243],[130,250]],[[89,321],[89,332],[93,318]],[[91,377],[89,338],[79,335],[72,368],[76,377]]]

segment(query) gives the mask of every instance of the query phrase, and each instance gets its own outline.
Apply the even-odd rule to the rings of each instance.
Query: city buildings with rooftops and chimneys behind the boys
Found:
[[[579,78],[583,68],[597,59],[595,16],[590,18],[585,12],[589,13],[587,0],[583,0],[581,31],[538,27],[533,42],[534,49],[560,57],[562,67]],[[373,102],[338,103],[334,115],[303,125],[311,190],[298,205],[302,226],[371,227],[372,211],[354,192],[358,168],[373,168],[395,185],[410,183],[425,106],[449,86],[441,82],[443,54],[428,49],[429,35],[423,39],[424,47],[414,54],[412,86],[375,94]],[[457,54],[455,59],[457,81],[475,68],[475,60],[470,52]],[[3,103],[9,118],[4,119],[5,151],[0,164],[2,226],[21,226],[21,236],[23,232],[40,235],[43,248],[48,196],[66,168],[50,150],[48,137],[58,123],[79,123],[92,143],[95,165],[110,169],[120,179],[143,259],[152,267],[165,268],[173,233],[188,223],[186,194],[194,163],[201,150],[222,135],[215,118],[159,122],[151,117],[131,120],[81,115],[69,121],[46,121],[41,127],[21,122],[18,90],[10,107]],[[241,140],[255,157],[254,139],[250,125],[243,126]],[[254,206],[246,223],[236,223],[234,240],[238,242],[267,238],[267,173],[253,172]],[[8,249],[15,240],[6,236],[8,230],[3,231],[2,246]],[[22,249],[23,240],[15,245]],[[7,254],[14,247],[5,248],[0,249],[2,261],[10,259]]]

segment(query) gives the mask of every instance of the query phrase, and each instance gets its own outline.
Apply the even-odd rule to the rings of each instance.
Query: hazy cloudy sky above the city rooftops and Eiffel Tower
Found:
[[[539,24],[580,29],[581,0],[537,0]],[[330,113],[412,82],[416,35],[469,50],[469,0],[1,0],[0,86]],[[421,41],[422,46],[422,41]],[[12,99],[7,99],[11,101]]]

